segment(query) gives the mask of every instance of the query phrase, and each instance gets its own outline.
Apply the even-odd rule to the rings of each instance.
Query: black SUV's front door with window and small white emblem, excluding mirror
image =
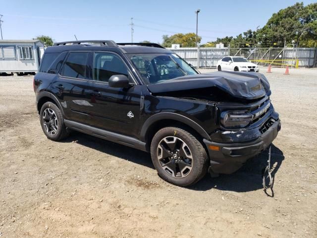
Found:
[[[121,134],[135,136],[140,118],[141,85],[138,85],[121,56],[113,52],[95,52],[92,61],[92,87],[94,95],[92,120],[94,126]],[[126,75],[129,88],[112,88],[108,80],[112,75]]]

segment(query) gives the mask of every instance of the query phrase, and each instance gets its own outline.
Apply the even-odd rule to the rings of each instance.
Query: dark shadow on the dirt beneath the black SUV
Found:
[[[155,169],[152,164],[150,153],[79,132],[72,132],[71,136],[62,142],[69,143],[73,141],[77,141],[78,144],[99,150],[103,153]],[[247,192],[263,189],[262,170],[267,164],[267,158],[268,150],[265,150],[258,156],[248,160],[247,163],[234,174],[220,175],[218,178],[211,178],[210,175],[207,174],[202,180],[188,188],[199,191],[206,191],[213,188],[235,192]],[[283,152],[276,146],[272,145],[271,167],[274,167],[271,170],[272,177],[275,176],[283,160]],[[273,194],[271,196],[273,196]]]

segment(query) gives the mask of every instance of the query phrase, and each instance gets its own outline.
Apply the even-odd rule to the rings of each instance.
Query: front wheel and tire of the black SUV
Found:
[[[208,155],[202,143],[179,127],[165,127],[153,137],[151,157],[159,176],[177,186],[189,186],[207,172]]]

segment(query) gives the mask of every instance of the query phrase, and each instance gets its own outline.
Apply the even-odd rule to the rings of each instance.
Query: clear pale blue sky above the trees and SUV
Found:
[[[55,42],[114,40],[162,42],[162,35],[196,32],[202,44],[263,27],[296,0],[0,0],[3,39],[48,35]],[[304,4],[314,0],[303,0]]]

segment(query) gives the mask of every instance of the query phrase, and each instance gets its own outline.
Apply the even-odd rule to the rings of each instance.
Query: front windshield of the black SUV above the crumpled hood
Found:
[[[175,54],[130,54],[129,57],[147,84],[198,74]]]

